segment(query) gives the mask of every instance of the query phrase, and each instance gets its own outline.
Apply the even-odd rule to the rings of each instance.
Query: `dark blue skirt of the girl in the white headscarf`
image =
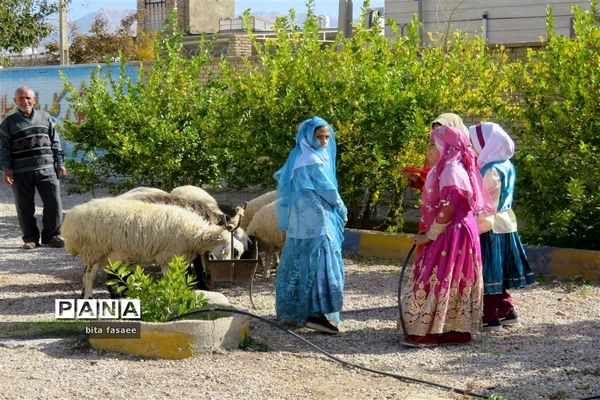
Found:
[[[518,232],[486,232],[480,236],[484,294],[499,294],[535,283]]]

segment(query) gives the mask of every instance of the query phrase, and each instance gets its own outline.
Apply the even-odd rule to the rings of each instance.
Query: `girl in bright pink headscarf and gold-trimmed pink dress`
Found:
[[[431,133],[435,162],[422,194],[424,234],[402,287],[401,310],[411,347],[469,343],[481,326],[483,278],[476,214],[493,212],[469,137],[442,126]]]

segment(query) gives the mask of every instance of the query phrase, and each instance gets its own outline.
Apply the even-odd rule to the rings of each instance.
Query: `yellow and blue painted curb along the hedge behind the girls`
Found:
[[[412,234],[346,229],[345,255],[382,257],[404,262],[412,247]],[[582,277],[600,283],[600,251],[549,246],[525,246],[537,277]]]

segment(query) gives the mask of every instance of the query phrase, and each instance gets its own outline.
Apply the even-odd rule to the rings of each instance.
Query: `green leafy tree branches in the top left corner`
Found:
[[[47,17],[58,10],[59,0],[2,0],[0,51],[19,53],[37,46],[53,30]]]

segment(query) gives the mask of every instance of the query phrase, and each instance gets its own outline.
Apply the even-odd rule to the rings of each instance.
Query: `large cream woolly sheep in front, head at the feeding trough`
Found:
[[[208,251],[230,246],[230,232],[184,208],[127,198],[102,198],[73,207],[62,225],[65,250],[85,265],[83,298],[108,259],[148,266],[163,275],[171,259],[188,262]]]

